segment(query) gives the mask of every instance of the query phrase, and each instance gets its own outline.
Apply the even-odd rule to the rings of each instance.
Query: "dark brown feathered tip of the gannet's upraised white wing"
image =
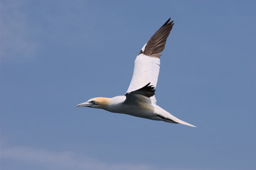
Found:
[[[146,47],[144,52],[142,50],[139,52],[140,54],[144,54],[150,57],[161,57],[160,52],[164,50],[164,47],[166,45],[166,40],[171,32],[171,29],[174,26],[174,21],[171,21],[171,18],[164,23],[159,30],[154,33],[154,35],[149,39],[148,42],[146,42]]]

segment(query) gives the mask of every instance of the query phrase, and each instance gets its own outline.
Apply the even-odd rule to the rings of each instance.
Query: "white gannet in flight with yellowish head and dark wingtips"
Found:
[[[174,26],[169,18],[159,30],[142,47],[134,62],[132,81],[124,96],[113,98],[91,98],[77,107],[102,108],[113,113],[124,113],[140,118],[162,120],[168,123],[181,123],[195,127],[180,120],[156,105],[155,88],[160,69],[160,57],[166,39]]]

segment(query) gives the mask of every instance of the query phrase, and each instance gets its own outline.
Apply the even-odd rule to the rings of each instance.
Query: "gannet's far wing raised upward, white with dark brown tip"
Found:
[[[128,94],[132,91],[142,89],[142,87],[149,85],[149,83],[156,88],[160,69],[160,52],[164,50],[166,39],[174,26],[174,21],[169,22],[170,20],[171,18],[154,33],[139,52],[134,62],[134,73],[127,90]],[[156,103],[155,96],[149,97],[151,101]]]

